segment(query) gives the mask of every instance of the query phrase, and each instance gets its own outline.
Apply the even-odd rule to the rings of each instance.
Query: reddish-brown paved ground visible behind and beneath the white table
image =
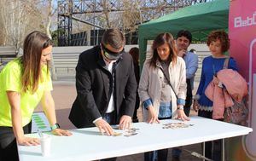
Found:
[[[56,109],[58,123],[61,124],[61,128],[63,129],[75,129],[73,124],[68,119],[71,106],[76,97],[74,78],[73,77],[59,78],[59,81],[55,81],[53,84],[54,84],[54,90],[52,92],[52,95],[55,100],[55,109]],[[36,112],[41,112],[41,111],[42,111],[42,107],[38,106]],[[196,114],[195,112],[191,111],[191,115],[195,115],[195,114]],[[138,110],[138,117],[140,120],[142,120],[141,110]],[[183,148],[188,149],[189,151],[201,152],[201,144],[190,145]],[[169,156],[171,156],[171,151],[169,152],[170,152]],[[118,161],[140,161],[140,160],[143,161],[142,153],[118,158]],[[171,161],[171,160],[172,158],[169,157],[168,161]],[[199,161],[201,159],[195,158],[194,156],[191,156],[188,152],[183,151],[181,160]]]

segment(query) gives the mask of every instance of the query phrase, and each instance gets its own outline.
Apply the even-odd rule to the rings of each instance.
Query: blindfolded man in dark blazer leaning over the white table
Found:
[[[79,56],[78,95],[69,115],[77,128],[96,126],[103,135],[113,135],[111,124],[119,124],[119,129],[130,127],[137,81],[131,55],[124,46],[124,35],[109,29],[100,45]]]

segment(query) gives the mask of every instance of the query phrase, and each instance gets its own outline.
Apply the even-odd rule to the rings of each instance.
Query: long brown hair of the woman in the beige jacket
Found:
[[[175,40],[171,33],[165,32],[165,33],[160,33],[157,37],[154,38],[154,43],[152,44],[152,47],[151,47],[153,51],[153,56],[150,60],[150,66],[156,67],[156,60],[160,60],[160,56],[157,53],[157,48],[165,43],[168,43],[168,46],[170,49],[170,55],[168,57],[168,60],[172,60],[173,65],[176,64],[177,47],[175,44]]]

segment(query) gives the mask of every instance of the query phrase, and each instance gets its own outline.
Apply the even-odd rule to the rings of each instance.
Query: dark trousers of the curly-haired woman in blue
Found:
[[[212,119],[212,112],[207,112],[205,110],[199,110],[198,116],[201,116],[203,118],[211,118]],[[223,120],[219,120],[223,121]],[[214,161],[221,161],[221,147],[222,147],[222,140],[216,140],[216,141],[207,141],[205,142],[205,157],[211,158]]]

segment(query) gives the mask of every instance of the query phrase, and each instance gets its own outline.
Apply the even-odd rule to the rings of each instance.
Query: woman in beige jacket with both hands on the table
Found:
[[[153,55],[144,62],[138,93],[143,102],[143,121],[160,123],[161,119],[189,120],[183,111],[186,99],[186,67],[177,56],[171,33],[154,39]],[[168,149],[157,152],[157,160],[167,160]],[[144,160],[154,160],[154,152],[146,152]]]

